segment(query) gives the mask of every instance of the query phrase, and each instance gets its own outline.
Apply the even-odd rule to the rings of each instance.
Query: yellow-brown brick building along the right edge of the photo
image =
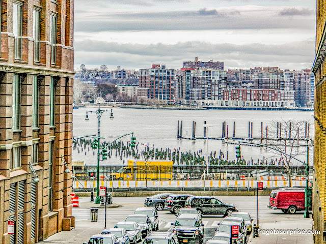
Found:
[[[326,243],[326,0],[317,0],[316,56],[312,68],[315,75],[315,132],[314,132],[314,180],[313,184],[313,229],[314,243]]]

